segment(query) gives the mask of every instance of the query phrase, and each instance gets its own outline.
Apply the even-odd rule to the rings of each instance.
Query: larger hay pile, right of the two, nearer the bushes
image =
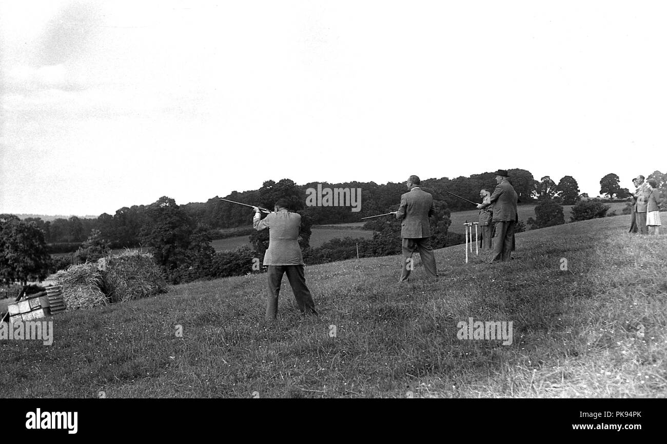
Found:
[[[167,283],[153,255],[125,250],[99,260],[103,289],[111,302],[125,302],[163,293]]]

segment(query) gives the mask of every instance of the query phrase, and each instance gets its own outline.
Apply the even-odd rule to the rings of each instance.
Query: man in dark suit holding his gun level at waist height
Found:
[[[428,220],[436,213],[436,205],[433,196],[420,188],[419,177],[410,176],[407,185],[410,192],[401,196],[401,206],[398,211],[392,211],[396,214],[396,219],[403,221],[401,223],[403,271],[400,282],[405,282],[410,277],[410,271],[414,268],[412,254],[415,250],[418,250],[422,257],[428,277],[436,279],[438,271],[436,257],[431,248],[431,224]]]

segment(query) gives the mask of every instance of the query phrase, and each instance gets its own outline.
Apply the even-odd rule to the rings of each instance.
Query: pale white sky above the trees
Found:
[[[667,3],[0,3],[0,213],[667,171]]]

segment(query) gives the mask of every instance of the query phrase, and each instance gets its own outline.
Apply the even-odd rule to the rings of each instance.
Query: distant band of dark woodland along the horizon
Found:
[[[550,177],[542,177],[541,181],[534,179],[532,173],[525,169],[510,169],[510,180],[516,189],[520,202],[529,203],[542,195],[557,193],[562,196],[565,205],[572,205],[580,198],[578,184],[574,177],[565,176],[558,184]],[[458,194],[471,201],[479,200],[479,191],[482,188],[492,191],[496,187],[493,173],[482,173],[470,177],[456,177],[449,179],[426,179],[422,181],[422,188],[434,195],[438,201],[446,203],[450,211],[473,209],[466,203],[445,191]],[[405,193],[404,183],[389,182],[378,185],[375,182],[346,182],[320,183],[322,187],[361,189],[361,211],[350,211],[350,207],[305,207],[304,212],[315,225],[329,223],[358,222],[362,217],[376,215],[387,211],[394,211]],[[296,187],[299,190],[299,201],[305,200],[305,190],[317,187],[317,182],[297,185],[289,179],[281,181],[265,181],[261,188],[251,191],[232,191],[225,197],[233,201],[249,203],[264,207],[271,207],[276,196],[285,190]],[[103,213],[97,219],[83,219],[76,216],[69,219],[55,219],[43,221],[30,217],[28,222],[35,222],[44,231],[45,241],[51,245],[51,253],[73,251],[85,241],[93,229],[99,230],[102,237],[111,242],[111,247],[137,247],[140,245],[141,229],[149,222],[151,205],[133,205],[122,207],[115,214]],[[213,237],[225,237],[225,231],[233,227],[249,224],[247,208],[219,200],[219,196],[211,197],[203,203],[187,203],[180,205],[187,216],[196,223],[208,225],[213,229]]]

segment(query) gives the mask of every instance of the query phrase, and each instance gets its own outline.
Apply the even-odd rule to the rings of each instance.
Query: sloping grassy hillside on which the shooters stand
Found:
[[[667,219],[667,214],[663,213]],[[7,397],[628,397],[667,393],[667,236],[629,216],[517,236],[516,259],[436,251],[440,281],[398,285],[399,257],[306,268],[319,319],[266,275],[53,318],[53,345],[0,341]],[[560,269],[562,258],[568,270]],[[457,339],[512,321],[514,342]],[[177,337],[177,325],[183,337]],[[331,337],[333,325],[336,337]]]

